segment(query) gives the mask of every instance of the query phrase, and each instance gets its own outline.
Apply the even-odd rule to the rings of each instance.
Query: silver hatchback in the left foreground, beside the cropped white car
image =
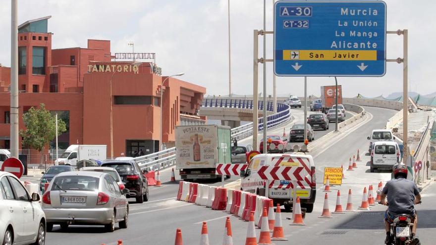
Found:
[[[103,172],[63,172],[54,177],[42,198],[47,218],[47,231],[59,224],[104,225],[108,232],[127,228],[129,205],[125,194],[110,176]]]

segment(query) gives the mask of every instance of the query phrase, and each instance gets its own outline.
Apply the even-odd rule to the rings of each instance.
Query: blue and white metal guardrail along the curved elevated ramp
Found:
[[[227,107],[227,108],[246,108],[253,109],[253,100],[249,99],[205,99],[202,103],[205,107]],[[262,110],[263,101],[259,101],[258,108]],[[267,102],[267,110],[272,111],[272,102]],[[277,113],[267,116],[267,129],[281,125],[291,119],[290,106],[284,103],[277,103]],[[259,131],[264,129],[263,118],[259,118]],[[237,140],[241,140],[253,135],[253,123],[241,125],[233,128],[230,135]],[[161,170],[175,165],[175,147],[171,147],[152,154],[133,158],[141,169]]]

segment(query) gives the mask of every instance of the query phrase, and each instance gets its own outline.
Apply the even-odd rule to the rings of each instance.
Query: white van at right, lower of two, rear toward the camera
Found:
[[[400,147],[396,142],[379,141],[371,151],[371,173],[378,168],[390,168],[400,161]]]

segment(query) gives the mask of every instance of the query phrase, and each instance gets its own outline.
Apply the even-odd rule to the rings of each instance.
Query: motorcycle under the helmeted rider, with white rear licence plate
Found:
[[[381,202],[379,203],[382,204]],[[413,217],[408,214],[395,216],[390,225],[392,232],[389,245],[421,245],[418,237],[412,237],[412,227],[414,225],[412,218]]]

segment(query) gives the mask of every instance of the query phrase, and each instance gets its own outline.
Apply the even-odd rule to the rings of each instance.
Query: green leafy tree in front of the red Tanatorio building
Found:
[[[41,154],[41,163],[43,163],[43,151],[45,146],[56,137],[56,117],[46,110],[46,106],[41,103],[39,109],[33,106],[23,114],[24,125],[26,130],[20,130],[20,136],[23,137],[23,145],[38,150]],[[57,120],[57,135],[66,131],[65,122]]]

